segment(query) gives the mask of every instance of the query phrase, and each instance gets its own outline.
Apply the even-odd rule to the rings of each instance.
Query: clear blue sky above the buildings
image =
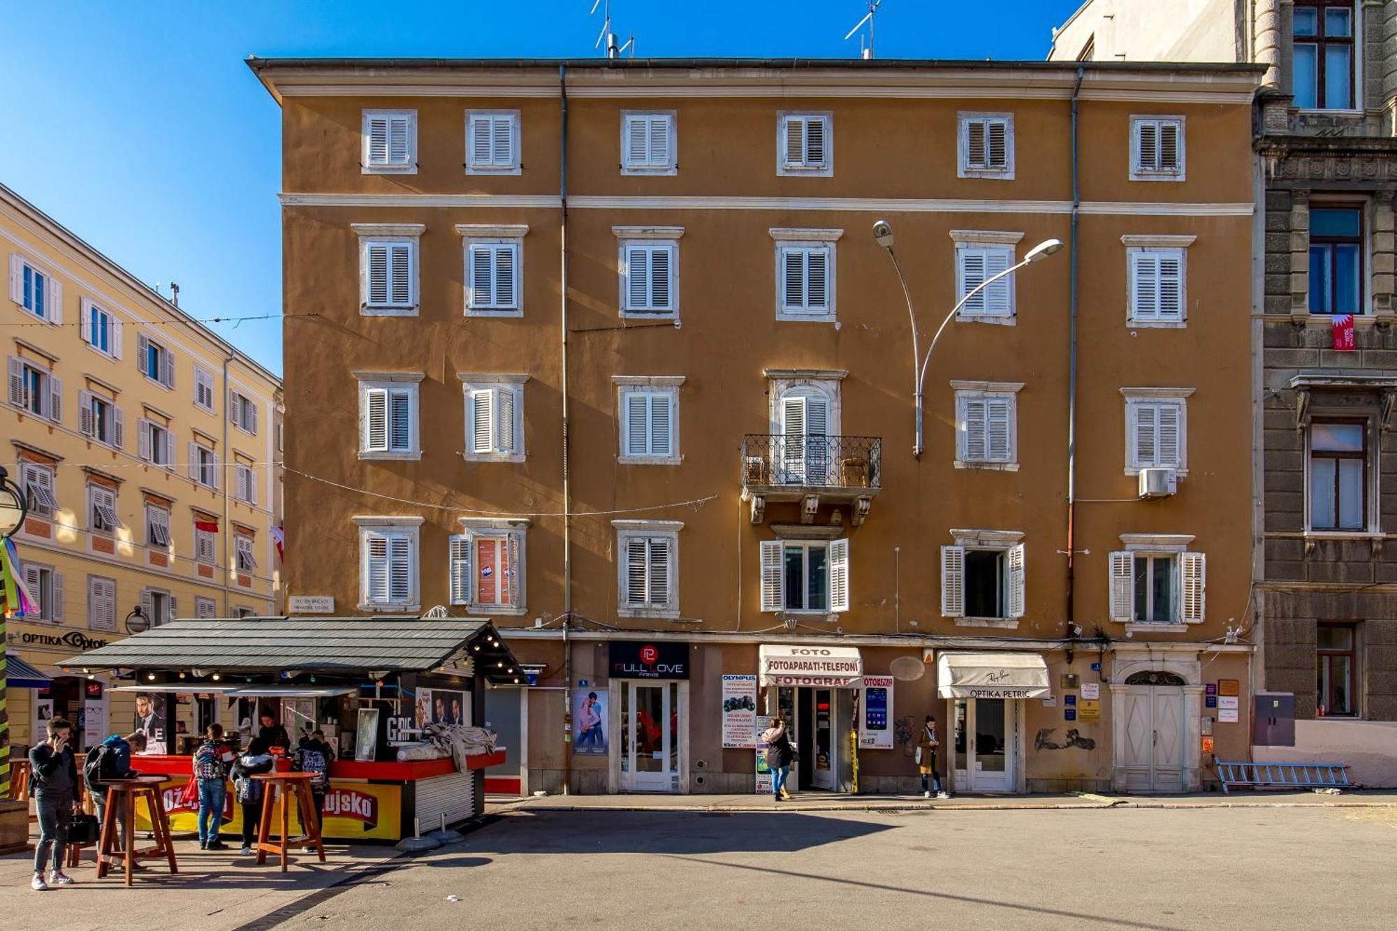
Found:
[[[272,56],[590,56],[590,0],[7,3],[0,180],[197,317],[281,312]],[[1042,59],[1078,0],[886,0],[879,57]],[[990,14],[989,10],[993,10]],[[391,13],[384,13],[391,11]],[[861,0],[613,0],[641,56],[856,56]],[[792,15],[793,13],[793,15]],[[215,329],[281,372],[281,323]]]

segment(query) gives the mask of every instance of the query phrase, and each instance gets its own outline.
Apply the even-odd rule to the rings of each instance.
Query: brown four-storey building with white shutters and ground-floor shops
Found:
[[[1243,752],[1256,68],[250,66],[288,591],[492,618],[511,790],[752,791],[753,706],[802,788],[916,786],[928,714],[953,791]],[[923,352],[968,295],[919,456],[879,219]]]

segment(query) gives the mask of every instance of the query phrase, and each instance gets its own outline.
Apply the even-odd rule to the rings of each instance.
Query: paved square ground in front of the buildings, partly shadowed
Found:
[[[10,928],[1391,928],[1397,808],[513,811],[415,858],[217,854],[34,893]],[[303,861],[305,863],[305,861]],[[200,869],[196,872],[194,867]],[[448,902],[457,895],[461,902]]]

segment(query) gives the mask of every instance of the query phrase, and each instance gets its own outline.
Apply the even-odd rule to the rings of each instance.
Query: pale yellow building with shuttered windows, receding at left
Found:
[[[131,684],[59,661],[137,607],[281,611],[281,380],[4,186],[0,250],[0,463],[29,495],[14,540],[39,602],[4,619],[10,738],[61,716],[89,746],[134,730]]]

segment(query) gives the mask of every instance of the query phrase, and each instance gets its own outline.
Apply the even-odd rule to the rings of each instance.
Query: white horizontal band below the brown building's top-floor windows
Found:
[[[282,207],[524,207],[557,208],[556,194],[281,194]],[[816,210],[926,214],[1070,214],[1067,200],[953,200],[880,197],[629,197],[578,194],[577,210]],[[1158,217],[1250,217],[1243,203],[1085,201],[1083,214]]]

